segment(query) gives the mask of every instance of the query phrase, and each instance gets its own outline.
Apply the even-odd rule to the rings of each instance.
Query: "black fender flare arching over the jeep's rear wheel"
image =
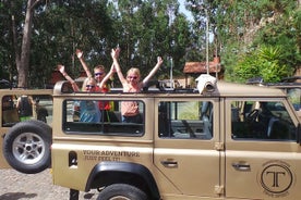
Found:
[[[94,166],[94,168],[92,170],[92,172],[88,176],[85,191],[88,191],[91,189],[96,176],[99,177],[99,175],[107,174],[109,172],[111,172],[111,173],[123,172],[123,173],[129,173],[129,174],[140,176],[144,180],[144,183],[147,185],[147,187],[152,193],[152,199],[160,199],[159,189],[158,189],[156,180],[155,180],[154,176],[152,175],[152,173],[149,172],[149,170],[142,164],[131,163],[131,162],[113,162],[113,161],[108,162],[108,161],[106,161],[106,162],[98,163],[97,165]],[[106,182],[106,179],[104,179],[104,182]],[[108,183],[110,183],[110,180],[108,180]]]

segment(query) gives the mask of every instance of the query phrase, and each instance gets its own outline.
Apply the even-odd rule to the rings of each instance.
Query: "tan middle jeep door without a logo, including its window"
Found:
[[[220,151],[218,99],[161,98],[155,100],[154,162],[176,188],[160,185],[165,199],[218,197]],[[172,195],[171,195],[172,193]]]

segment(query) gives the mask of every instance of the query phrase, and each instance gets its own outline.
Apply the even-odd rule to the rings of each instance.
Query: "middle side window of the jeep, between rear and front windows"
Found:
[[[159,137],[213,137],[213,103],[208,101],[161,101],[158,104]]]

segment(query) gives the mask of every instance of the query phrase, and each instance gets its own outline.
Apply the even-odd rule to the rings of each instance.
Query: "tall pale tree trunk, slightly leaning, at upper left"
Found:
[[[16,62],[16,70],[19,74],[17,87],[27,88],[28,86],[28,68],[29,68],[29,50],[32,39],[32,24],[33,24],[33,5],[35,0],[27,1],[26,16],[23,29],[23,40],[21,47],[21,59]]]

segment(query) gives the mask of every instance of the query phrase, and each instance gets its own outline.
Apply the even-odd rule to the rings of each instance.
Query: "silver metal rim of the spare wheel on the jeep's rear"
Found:
[[[24,164],[34,164],[45,154],[45,142],[37,134],[24,133],[13,141],[13,155]]]

